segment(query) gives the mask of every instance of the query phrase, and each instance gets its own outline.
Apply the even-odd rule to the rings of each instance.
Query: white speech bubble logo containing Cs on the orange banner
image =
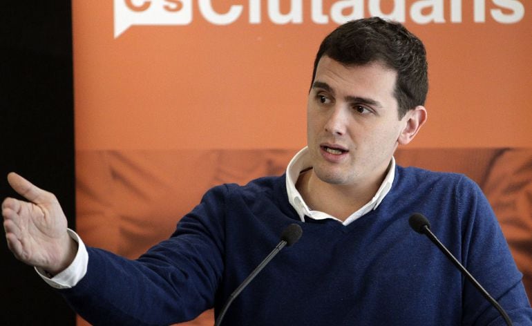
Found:
[[[134,25],[188,25],[192,0],[114,0],[115,39]]]

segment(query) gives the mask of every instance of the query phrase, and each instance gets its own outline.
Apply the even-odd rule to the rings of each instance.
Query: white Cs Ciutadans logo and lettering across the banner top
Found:
[[[263,17],[261,6],[267,1],[267,17]],[[287,0],[283,0],[287,1]],[[149,25],[188,25],[192,22],[193,5],[198,6],[202,19],[213,25],[229,25],[245,17],[247,10],[249,23],[262,23],[268,19],[272,23],[299,24],[305,21],[303,5],[309,6],[310,21],[316,24],[345,23],[364,17],[364,6],[368,6],[370,16],[379,16],[404,23],[406,21],[406,0],[393,0],[392,10],[383,12],[383,0],[336,0],[330,6],[330,12],[323,8],[324,0],[290,0],[288,12],[281,12],[281,0],[247,0],[247,4],[232,4],[225,12],[213,8],[213,0],[113,0],[115,13],[115,38],[122,35],[131,26]],[[389,1],[389,0],[387,0]],[[491,6],[486,12],[486,1]],[[245,2],[245,1],[240,1]],[[446,23],[446,10],[451,23],[462,23],[463,6],[473,6],[473,21],[485,23],[486,13],[497,23],[517,23],[524,17],[524,6],[520,0],[417,0],[410,4],[408,14],[415,23]],[[388,7],[387,7],[388,8]],[[328,14],[328,15],[327,15]]]

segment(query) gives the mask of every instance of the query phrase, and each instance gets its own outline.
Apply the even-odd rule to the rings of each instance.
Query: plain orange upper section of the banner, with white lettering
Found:
[[[426,44],[410,147],[532,146],[531,1],[73,1],[76,148],[299,148],[315,52],[342,21]]]

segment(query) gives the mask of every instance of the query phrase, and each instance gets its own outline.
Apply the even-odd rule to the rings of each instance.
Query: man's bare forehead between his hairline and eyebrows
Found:
[[[325,83],[332,90],[346,95],[379,95],[394,97],[397,71],[373,61],[364,65],[345,65],[330,57],[321,57],[314,81]],[[354,94],[350,94],[354,93]]]

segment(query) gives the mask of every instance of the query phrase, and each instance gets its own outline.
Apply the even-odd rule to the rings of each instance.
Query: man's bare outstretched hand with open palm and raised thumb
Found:
[[[3,228],[17,259],[57,274],[74,260],[77,243],[68,236],[66,217],[53,193],[39,189],[17,173],[8,174],[12,188],[28,202],[6,198]]]

